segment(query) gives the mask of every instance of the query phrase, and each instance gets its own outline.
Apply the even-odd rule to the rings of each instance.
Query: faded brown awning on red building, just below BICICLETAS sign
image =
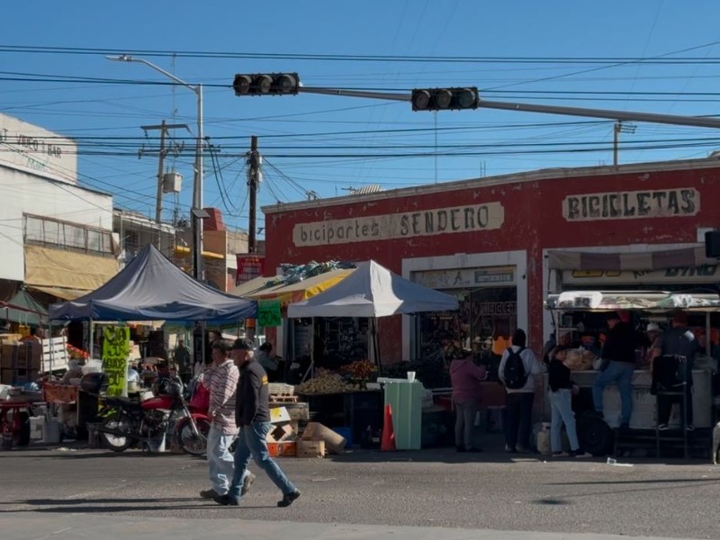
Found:
[[[705,247],[661,249],[635,253],[586,253],[580,251],[548,251],[548,266],[555,270],[664,270],[666,268],[716,265],[705,257]]]

